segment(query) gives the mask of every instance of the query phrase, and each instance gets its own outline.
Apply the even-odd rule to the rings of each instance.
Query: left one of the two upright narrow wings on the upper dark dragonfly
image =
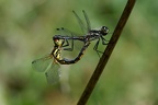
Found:
[[[82,20],[78,16],[78,14],[75,11],[72,11],[72,12],[74,12],[75,16],[77,18],[77,21],[81,27],[82,33],[86,35],[88,33],[88,28],[87,28],[86,24],[82,22]]]

